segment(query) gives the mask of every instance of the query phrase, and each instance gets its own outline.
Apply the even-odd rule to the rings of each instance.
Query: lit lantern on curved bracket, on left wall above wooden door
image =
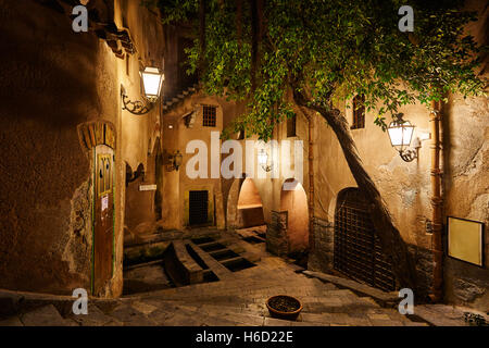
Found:
[[[153,109],[158,98],[160,98],[161,87],[165,79],[165,75],[158,67],[146,67],[145,71],[140,72],[140,75],[145,101],[131,101],[126,95],[125,88],[123,86],[121,88],[123,110],[127,110],[135,115],[143,115]]]

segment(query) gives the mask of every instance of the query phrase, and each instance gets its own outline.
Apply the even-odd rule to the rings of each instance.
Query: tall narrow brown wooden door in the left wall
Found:
[[[106,146],[95,153],[92,293],[103,291],[113,274],[114,154]]]

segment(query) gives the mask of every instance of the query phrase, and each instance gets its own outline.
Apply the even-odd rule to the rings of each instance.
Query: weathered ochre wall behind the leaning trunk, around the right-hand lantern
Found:
[[[481,20],[469,26],[479,42],[487,44],[488,9],[473,2],[472,9]],[[486,59],[487,60],[487,59]],[[487,77],[487,62],[486,77]],[[482,70],[484,72],[484,70]],[[342,107],[342,105],[341,105]],[[351,109],[342,110],[351,122]],[[413,139],[429,132],[429,111],[421,104],[405,107],[400,112],[416,126]],[[489,101],[487,97],[467,98],[449,96],[442,114],[442,169],[443,169],[443,222],[447,216],[456,216],[485,223],[484,268],[444,257],[446,301],[462,303],[487,310],[489,303],[488,224],[489,224],[489,176],[487,126]],[[410,245],[418,270],[419,281],[428,289],[431,282],[430,256],[431,220],[430,203],[430,140],[422,141],[418,159],[411,163],[402,161],[390,146],[387,133],[374,124],[375,114],[366,113],[365,128],[352,129],[360,156],[368,174],[373,177],[392,215],[394,225]],[[387,120],[390,122],[390,120]],[[314,116],[315,176],[315,240],[316,251],[310,266],[330,270],[335,223],[334,214],[338,192],[356,184],[348,169],[335,134],[326,122]],[[321,156],[317,156],[321,153]],[[446,224],[443,226],[443,250],[447,254]]]

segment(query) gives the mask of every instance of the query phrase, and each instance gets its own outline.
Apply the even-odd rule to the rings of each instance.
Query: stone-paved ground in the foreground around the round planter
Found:
[[[369,297],[360,297],[331,283],[308,277],[285,260],[262,253],[256,266],[230,274],[218,282],[137,294],[115,300],[90,300],[88,315],[75,315],[70,303],[45,303],[20,313],[2,325],[83,326],[428,326],[383,308]],[[265,300],[290,295],[303,304],[298,321],[272,319]],[[427,308],[438,324],[463,325],[460,313],[447,308]],[[437,314],[438,311],[438,314]],[[444,311],[444,313],[443,313]],[[432,324],[432,323],[431,323]]]

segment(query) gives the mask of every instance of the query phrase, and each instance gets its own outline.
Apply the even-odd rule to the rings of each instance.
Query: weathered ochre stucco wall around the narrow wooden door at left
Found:
[[[120,2],[108,20],[122,25]],[[53,294],[90,288],[92,163],[77,125],[103,120],[116,129],[116,262],[102,295],[118,296],[124,161],[146,163],[152,136],[148,124],[155,117],[129,121],[121,111],[121,83],[139,97],[138,59],[133,58],[126,75],[126,63],[104,40],[93,33],[74,33],[66,14],[37,1],[2,0],[0,9],[0,173],[7,178],[0,183],[0,287]],[[147,12],[133,11],[142,21],[128,16],[128,26],[136,37],[162,35],[160,22]],[[146,51],[145,45],[148,39],[137,41],[138,51]]]

